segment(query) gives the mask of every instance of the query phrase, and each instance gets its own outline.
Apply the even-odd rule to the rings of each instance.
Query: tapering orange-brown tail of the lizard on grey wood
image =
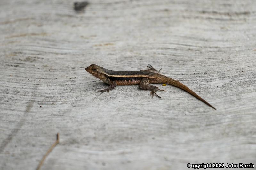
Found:
[[[200,96],[198,96],[195,92],[193,92],[192,90],[190,90],[186,85],[183,85],[182,83],[180,83],[177,80],[174,80],[172,78],[164,78],[166,83],[169,85],[173,85],[176,87],[179,87],[180,89],[188,92],[189,94],[191,94],[192,96],[196,97],[198,100],[201,100],[202,102],[204,102],[205,104],[207,104],[208,106],[212,107],[213,109],[216,110],[216,108],[214,108],[212,105],[210,105],[207,101],[205,101],[203,98],[201,98]]]

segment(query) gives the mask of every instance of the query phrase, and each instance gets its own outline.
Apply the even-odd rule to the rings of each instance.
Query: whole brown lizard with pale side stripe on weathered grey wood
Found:
[[[150,64],[149,66],[147,66],[147,68],[148,69],[146,70],[140,71],[112,71],[92,64],[89,67],[86,67],[85,70],[109,85],[108,88],[98,91],[101,93],[108,92],[109,90],[115,88],[116,85],[139,85],[140,89],[151,90],[150,95],[152,97],[156,95],[157,97],[161,98],[156,94],[156,92],[164,90],[161,90],[156,86],[150,85],[150,83],[165,83],[176,86],[188,92],[192,96],[196,97],[198,100],[201,100],[202,102],[216,110],[216,108],[214,108],[207,101],[198,96],[195,92],[190,90],[186,85],[183,85],[177,80],[160,74],[159,72],[161,69],[158,71]]]

